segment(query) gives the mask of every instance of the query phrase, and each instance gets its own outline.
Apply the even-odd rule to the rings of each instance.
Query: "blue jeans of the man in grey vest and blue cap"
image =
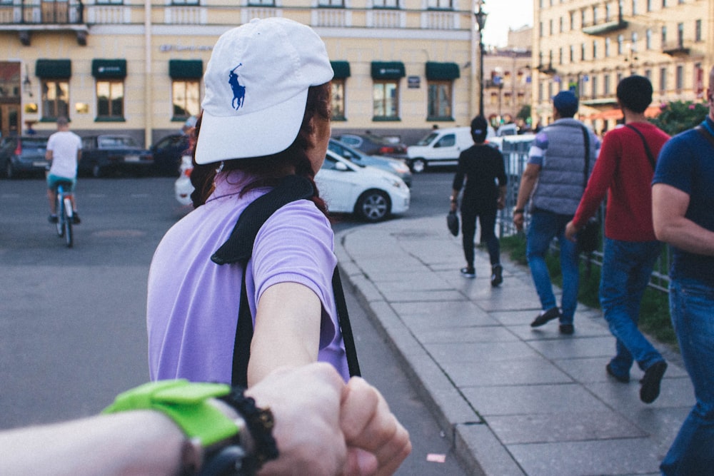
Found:
[[[550,281],[545,253],[550,242],[558,238],[560,245],[560,273],[563,274],[563,298],[560,303],[561,324],[572,324],[575,306],[578,305],[578,250],[575,243],[565,238],[565,225],[572,220],[572,215],[559,215],[549,211],[536,210],[531,214],[531,225],[526,235],[526,258],[531,268],[535,291],[540,298],[543,310],[555,308],[553,284]]]

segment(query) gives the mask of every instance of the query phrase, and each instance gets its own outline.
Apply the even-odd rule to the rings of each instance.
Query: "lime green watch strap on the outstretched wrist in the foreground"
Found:
[[[102,413],[157,410],[174,420],[188,438],[197,438],[201,446],[208,447],[240,432],[235,421],[208,402],[230,392],[231,387],[221,383],[161,380],[120,393]]]

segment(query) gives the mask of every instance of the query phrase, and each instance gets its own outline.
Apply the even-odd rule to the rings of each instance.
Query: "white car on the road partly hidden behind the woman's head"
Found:
[[[176,179],[176,200],[191,203],[191,156],[181,158],[181,176]],[[320,196],[332,213],[355,213],[365,221],[381,221],[409,209],[411,193],[406,183],[387,171],[359,166],[327,151],[315,176]]]

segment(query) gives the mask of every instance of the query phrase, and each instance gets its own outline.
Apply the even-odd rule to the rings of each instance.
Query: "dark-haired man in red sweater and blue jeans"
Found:
[[[565,226],[565,236],[576,239],[578,230],[595,215],[607,193],[600,305],[617,343],[615,357],[605,370],[618,382],[628,383],[636,360],[645,371],[640,400],[651,403],[660,393],[667,363],[637,324],[640,300],[661,250],[652,224],[650,184],[655,160],[669,136],[645,118],[645,109],[652,102],[652,84],[647,78],[623,79],[617,98],[625,126],[618,126],[603,138],[588,187],[573,221]]]

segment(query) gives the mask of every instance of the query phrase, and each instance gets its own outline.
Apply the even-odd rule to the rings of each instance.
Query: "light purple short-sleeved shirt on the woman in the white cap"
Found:
[[[146,312],[151,380],[231,382],[243,270],[238,264],[217,265],[211,255],[246,206],[268,189],[240,196],[245,177],[229,174],[217,176],[208,201],[171,227],[154,253]],[[332,290],[333,241],[330,223],[314,203],[288,203],[258,231],[246,289],[253,325],[256,302],[271,285],[300,283],[313,290],[323,308],[318,360],[331,363],[347,380]]]

